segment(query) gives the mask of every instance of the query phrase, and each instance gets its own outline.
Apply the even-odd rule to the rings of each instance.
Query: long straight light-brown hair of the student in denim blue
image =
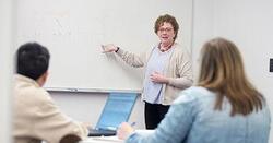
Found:
[[[217,93],[216,110],[222,109],[226,97],[232,104],[232,116],[263,108],[264,98],[248,81],[238,48],[227,39],[218,37],[204,44],[198,85]]]

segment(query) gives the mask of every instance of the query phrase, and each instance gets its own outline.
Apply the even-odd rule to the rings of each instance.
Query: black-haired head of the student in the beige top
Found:
[[[16,73],[37,81],[49,65],[50,55],[46,47],[37,43],[27,43],[16,51]]]

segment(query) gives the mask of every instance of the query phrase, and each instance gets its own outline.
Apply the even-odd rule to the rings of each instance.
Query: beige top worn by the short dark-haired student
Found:
[[[87,129],[62,114],[34,80],[15,75],[13,95],[14,143],[59,143],[67,134],[87,136]]]

